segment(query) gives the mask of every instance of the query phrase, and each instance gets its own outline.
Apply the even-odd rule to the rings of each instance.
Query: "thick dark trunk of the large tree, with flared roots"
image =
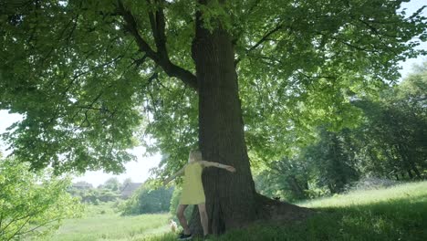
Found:
[[[255,193],[231,37],[221,27],[213,32],[204,29],[200,13],[197,15],[193,59],[199,88],[199,146],[204,160],[233,165],[236,169],[236,173],[213,167],[203,171],[210,233],[222,234],[259,218],[270,218],[272,213],[283,213],[277,206],[284,203]],[[293,210],[288,214],[299,211],[297,206],[290,204],[280,208]],[[301,210],[300,214],[307,213],[306,209]],[[196,206],[190,227],[193,233],[202,233]]]

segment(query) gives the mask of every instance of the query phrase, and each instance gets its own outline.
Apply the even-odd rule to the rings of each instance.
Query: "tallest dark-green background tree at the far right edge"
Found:
[[[366,173],[398,180],[426,177],[425,89],[427,63],[399,86],[383,91],[380,100],[355,102],[367,116],[354,138],[365,156]]]

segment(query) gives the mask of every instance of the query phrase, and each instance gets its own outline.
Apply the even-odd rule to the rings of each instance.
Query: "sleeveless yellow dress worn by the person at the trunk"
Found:
[[[203,166],[200,162],[191,162],[185,167],[180,204],[203,204],[205,202],[202,171]]]

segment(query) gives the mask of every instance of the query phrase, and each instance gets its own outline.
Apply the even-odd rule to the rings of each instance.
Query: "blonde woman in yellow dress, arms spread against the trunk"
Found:
[[[184,173],[184,181],[182,186],[182,194],[180,204],[177,210],[177,217],[183,228],[183,233],[180,235],[180,240],[191,239],[193,237],[190,228],[187,225],[187,220],[183,215],[185,208],[189,204],[197,204],[199,207],[200,221],[203,226],[203,236],[208,235],[208,216],[206,213],[205,197],[203,192],[202,171],[204,167],[217,167],[225,169],[228,172],[235,172],[233,166],[224,165],[218,162],[207,162],[202,160],[202,152],[192,151],[188,156],[188,163],[177,173],[163,181],[163,184],[171,182],[175,177]]]

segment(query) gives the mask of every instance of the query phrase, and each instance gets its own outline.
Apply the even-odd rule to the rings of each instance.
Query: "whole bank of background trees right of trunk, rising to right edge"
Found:
[[[338,194],[360,177],[425,179],[427,62],[378,97],[354,98],[362,115],[353,128],[320,126],[318,141],[255,175],[257,189],[286,200]]]

